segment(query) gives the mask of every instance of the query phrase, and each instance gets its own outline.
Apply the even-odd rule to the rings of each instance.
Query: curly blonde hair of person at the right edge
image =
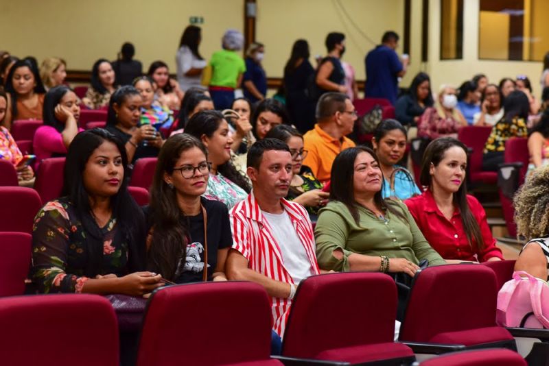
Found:
[[[549,234],[549,167],[537,169],[513,199],[517,234],[527,240]]]

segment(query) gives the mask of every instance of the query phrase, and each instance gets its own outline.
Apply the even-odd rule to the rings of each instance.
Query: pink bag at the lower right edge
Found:
[[[522,277],[522,276],[524,277]],[[549,329],[549,284],[524,271],[513,273],[498,293],[496,323],[506,327]]]

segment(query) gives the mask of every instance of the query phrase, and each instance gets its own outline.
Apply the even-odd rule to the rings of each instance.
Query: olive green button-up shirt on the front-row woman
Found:
[[[395,201],[387,204],[402,212],[408,222],[388,210],[385,219],[380,219],[359,206],[357,225],[347,206],[337,201],[329,202],[320,210],[314,229],[318,266],[326,270],[350,271],[349,256],[353,253],[406,258],[416,265],[422,259],[429,260],[429,265],[445,264],[419,231],[408,208]],[[336,249],[342,250],[342,259],[334,257]]]

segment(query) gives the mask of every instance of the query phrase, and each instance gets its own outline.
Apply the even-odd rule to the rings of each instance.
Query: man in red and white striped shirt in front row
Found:
[[[296,286],[320,273],[314,234],[303,206],[284,199],[292,180],[292,156],[285,143],[265,138],[248,151],[253,192],[230,212],[233,248],[229,280],[247,280],[272,296],[273,329],[282,336]]]

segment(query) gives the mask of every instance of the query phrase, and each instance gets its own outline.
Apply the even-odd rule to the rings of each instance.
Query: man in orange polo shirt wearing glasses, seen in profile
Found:
[[[316,106],[316,125],[303,136],[305,150],[309,151],[303,165],[311,168],[320,182],[330,180],[331,164],[340,151],[354,147],[346,135],[353,132],[357,119],[351,99],[343,93],[326,93]]]

